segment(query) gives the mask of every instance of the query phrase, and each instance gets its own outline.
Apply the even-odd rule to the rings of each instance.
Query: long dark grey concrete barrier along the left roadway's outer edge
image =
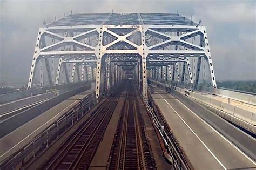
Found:
[[[80,92],[90,89],[90,85],[86,85],[83,87],[79,87],[78,89],[73,89],[63,94],[59,94],[58,96],[51,98],[37,106],[31,107],[26,111],[23,111],[19,114],[16,114],[8,119],[5,119],[0,123],[0,138],[4,137],[6,134],[14,131],[19,126],[27,123],[28,121],[36,118],[38,115],[43,112],[49,110],[51,107],[56,106],[61,103],[65,99],[68,99]]]

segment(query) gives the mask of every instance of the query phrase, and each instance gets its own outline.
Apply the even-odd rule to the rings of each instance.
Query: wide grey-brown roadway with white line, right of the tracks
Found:
[[[153,86],[150,92],[195,169],[255,167],[253,161],[171,94]]]

